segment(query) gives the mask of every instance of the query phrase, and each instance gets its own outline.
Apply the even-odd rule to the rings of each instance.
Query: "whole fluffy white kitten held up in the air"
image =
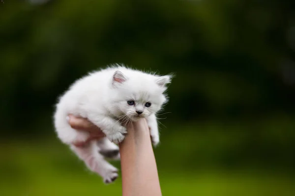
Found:
[[[146,118],[153,145],[159,143],[155,114],[167,101],[164,92],[170,81],[171,75],[158,76],[121,66],[90,73],[77,80],[57,104],[54,118],[59,139],[70,145],[105,183],[113,182],[118,177],[118,170],[104,158],[119,157],[114,143],[124,140],[127,133],[124,125]],[[73,142],[86,141],[89,134],[71,128],[66,121],[68,114],[89,119],[107,138],[92,141],[86,147],[73,146]]]

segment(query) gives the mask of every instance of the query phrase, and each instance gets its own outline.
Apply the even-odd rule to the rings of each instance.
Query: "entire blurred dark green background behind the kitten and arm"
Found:
[[[112,63],[177,75],[164,196],[295,195],[295,1],[1,1],[0,196],[121,195],[52,123],[57,97]]]

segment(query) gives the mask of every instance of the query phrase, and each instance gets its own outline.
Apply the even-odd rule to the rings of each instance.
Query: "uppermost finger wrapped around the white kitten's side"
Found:
[[[73,129],[84,130],[89,132],[101,132],[100,128],[98,128],[95,124],[89,122],[87,119],[78,118],[71,114],[68,117],[68,122]]]

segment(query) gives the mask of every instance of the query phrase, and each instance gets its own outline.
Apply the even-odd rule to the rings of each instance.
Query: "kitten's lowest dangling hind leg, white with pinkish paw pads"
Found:
[[[89,170],[102,176],[106,184],[117,179],[118,169],[104,160],[104,157],[97,152],[96,141],[90,142],[85,147],[71,146],[71,149],[85,162]]]

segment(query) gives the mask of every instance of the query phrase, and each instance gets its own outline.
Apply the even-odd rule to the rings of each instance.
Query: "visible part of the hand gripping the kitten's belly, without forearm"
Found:
[[[88,144],[91,140],[99,140],[106,135],[101,131],[99,127],[91,123],[89,120],[81,117],[75,117],[74,115],[68,115],[68,123],[73,129],[77,131],[87,131],[89,132],[89,138],[85,142],[75,142],[73,143],[76,147],[83,147]]]

